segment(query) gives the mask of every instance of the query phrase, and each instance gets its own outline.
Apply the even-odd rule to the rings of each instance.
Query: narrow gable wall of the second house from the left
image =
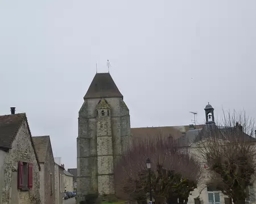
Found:
[[[52,175],[52,184],[51,184]],[[55,162],[51,144],[48,145],[46,161],[44,162],[44,203],[55,204]],[[51,192],[52,185],[52,192]],[[43,204],[43,203],[42,203]]]

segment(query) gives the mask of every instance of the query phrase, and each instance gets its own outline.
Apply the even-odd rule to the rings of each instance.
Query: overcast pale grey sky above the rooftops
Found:
[[[131,126],[204,122],[208,101],[256,117],[255,0],[0,2],[0,113],[26,112],[32,135],[76,168],[77,117],[108,71]]]

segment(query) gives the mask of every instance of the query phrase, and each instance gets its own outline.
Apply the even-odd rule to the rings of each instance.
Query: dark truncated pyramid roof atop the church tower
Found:
[[[97,73],[84,99],[103,98],[103,97],[122,97],[123,95],[115,85],[112,76],[109,73]]]

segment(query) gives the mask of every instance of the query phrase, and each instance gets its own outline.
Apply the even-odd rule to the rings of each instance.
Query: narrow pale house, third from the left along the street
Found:
[[[55,163],[55,204],[64,203],[64,168]]]

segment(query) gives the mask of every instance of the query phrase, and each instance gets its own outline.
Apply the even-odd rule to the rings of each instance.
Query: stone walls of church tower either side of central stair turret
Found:
[[[89,192],[98,192],[96,106],[101,99],[86,99],[79,111],[77,137],[77,202]],[[120,98],[105,98],[111,108],[114,163],[131,145],[130,115]],[[108,184],[109,185],[109,184]]]

